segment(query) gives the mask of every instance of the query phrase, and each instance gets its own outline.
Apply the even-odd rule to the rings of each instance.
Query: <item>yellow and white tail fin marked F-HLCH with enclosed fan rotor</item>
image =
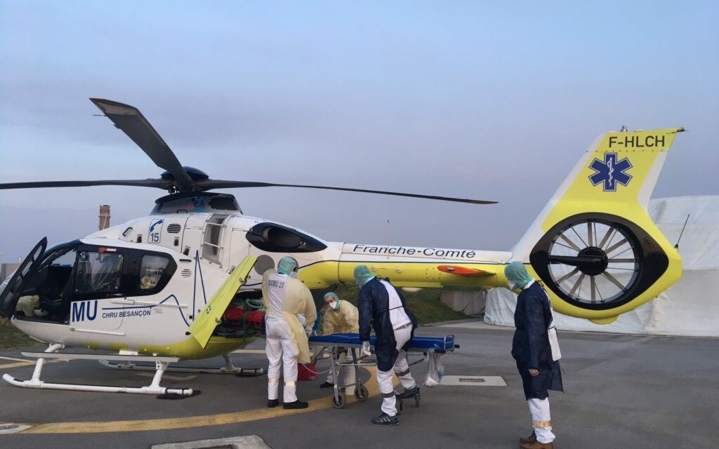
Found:
[[[597,137],[521,241],[560,313],[610,323],[682,275],[682,259],[646,206],[683,128]]]

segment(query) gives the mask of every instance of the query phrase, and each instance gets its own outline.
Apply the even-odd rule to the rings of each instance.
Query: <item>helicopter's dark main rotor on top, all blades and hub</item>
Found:
[[[472,200],[469,198],[453,198],[438,195],[419,195],[416,193],[390,192],[386,190],[355,189],[345,187],[329,187],[324,185],[298,185],[281,184],[273,182],[212,180],[205,172],[193,167],[180,164],[172,149],[165,143],[162,136],[152,127],[150,121],[135,108],[117,101],[103,98],[90,98],[104,115],[122,130],[137,144],[147,156],[155,162],[157,167],[166,170],[159,179],[146,180],[88,180],[88,181],[43,181],[43,182],[8,182],[0,184],[1,189],[24,188],[58,188],[58,187],[88,187],[92,185],[132,185],[137,187],[152,187],[168,190],[170,193],[205,192],[217,188],[259,188],[284,187],[322,190],[341,190],[344,192],[374,193],[378,195],[393,195],[407,198],[423,198],[429,200],[452,201],[469,204],[495,204],[496,201]]]

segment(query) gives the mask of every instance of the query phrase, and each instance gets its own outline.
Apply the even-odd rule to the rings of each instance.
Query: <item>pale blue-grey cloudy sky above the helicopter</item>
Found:
[[[506,4],[505,4],[506,3]],[[654,197],[719,194],[719,4],[0,0],[0,182],[159,168],[88,97],[139,108],[244,212],[324,239],[510,249],[598,134],[684,126]],[[162,191],[0,191],[3,261]],[[389,221],[389,223],[388,223]]]

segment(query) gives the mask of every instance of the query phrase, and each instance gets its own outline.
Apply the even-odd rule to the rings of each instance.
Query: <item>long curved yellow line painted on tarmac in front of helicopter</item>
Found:
[[[370,397],[380,393],[377,385],[375,369],[370,369],[372,376],[365,386]],[[357,402],[354,396],[348,397],[347,402]],[[35,425],[22,433],[103,433],[103,432],[139,432],[142,430],[170,430],[186,429],[188,427],[206,427],[210,425],[234,424],[237,422],[249,422],[267,420],[301,413],[316,412],[317,410],[332,407],[332,397],[313,399],[306,409],[285,410],[282,407],[274,409],[262,408],[255,410],[244,410],[242,412],[220,413],[218,415],[201,415],[176,418],[162,418],[157,420],[127,420],[127,421],[87,421],[87,422],[51,422]]]

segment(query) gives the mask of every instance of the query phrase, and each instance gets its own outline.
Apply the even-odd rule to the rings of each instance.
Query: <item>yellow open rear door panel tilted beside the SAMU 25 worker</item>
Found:
[[[247,282],[247,274],[249,274],[256,261],[257,257],[255,256],[246,256],[242,259],[242,262],[212,296],[202,313],[190,325],[188,334],[192,335],[203,349],[207,346],[212,333],[221,322],[222,315],[237,290]]]

